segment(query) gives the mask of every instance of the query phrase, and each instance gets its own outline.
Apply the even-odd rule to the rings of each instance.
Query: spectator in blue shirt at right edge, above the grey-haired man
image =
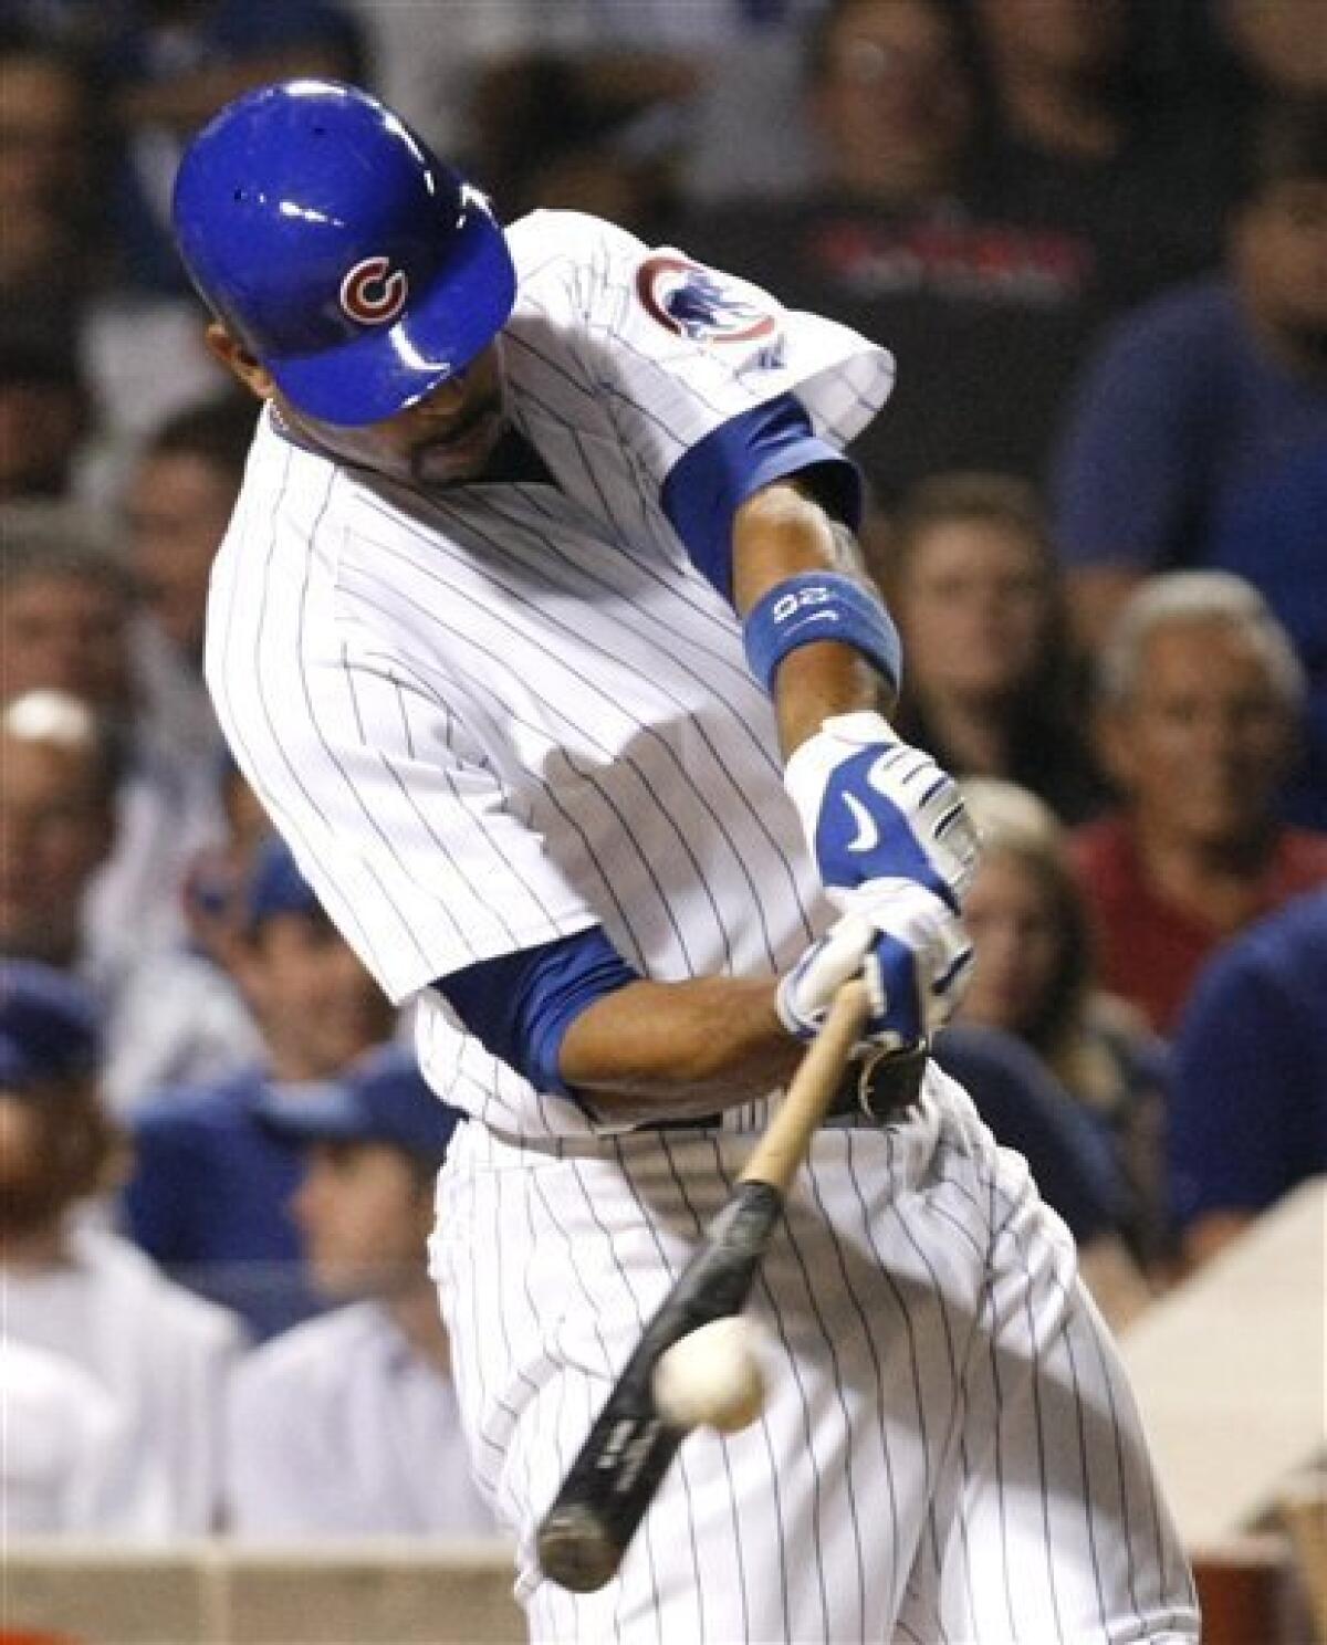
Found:
[[[1263,591],[1309,671],[1294,814],[1327,826],[1327,95],[1263,117],[1227,268],[1106,339],[1054,492],[1093,648],[1148,572],[1218,568]]]

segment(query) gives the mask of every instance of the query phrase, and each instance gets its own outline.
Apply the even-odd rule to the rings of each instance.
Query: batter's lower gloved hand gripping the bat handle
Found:
[[[843,915],[779,984],[789,1033],[812,1040],[835,994],[861,977],[871,1000],[864,1043],[922,1045],[958,1007],[973,951],[958,915],[912,880],[871,880],[835,895]]]

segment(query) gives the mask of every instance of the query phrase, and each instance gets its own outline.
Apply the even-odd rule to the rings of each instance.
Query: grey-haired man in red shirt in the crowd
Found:
[[[1101,980],[1169,1035],[1215,949],[1327,880],[1327,836],[1278,813],[1304,676],[1256,589],[1174,571],[1133,594],[1098,678],[1121,804],[1078,832],[1075,869]]]

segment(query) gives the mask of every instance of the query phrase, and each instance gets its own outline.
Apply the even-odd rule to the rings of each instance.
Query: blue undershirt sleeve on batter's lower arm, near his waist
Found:
[[[636,982],[599,926],[466,966],[433,987],[492,1056],[524,1074],[535,1091],[575,1096],[561,1077],[561,1041],[580,1013]]]

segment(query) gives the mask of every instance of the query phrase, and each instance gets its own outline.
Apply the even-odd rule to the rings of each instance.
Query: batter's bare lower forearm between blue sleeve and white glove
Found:
[[[604,1119],[695,1115],[764,1096],[800,1054],[772,980],[632,982],[589,1005],[561,1041],[560,1073]]]

